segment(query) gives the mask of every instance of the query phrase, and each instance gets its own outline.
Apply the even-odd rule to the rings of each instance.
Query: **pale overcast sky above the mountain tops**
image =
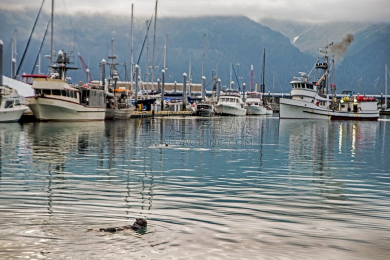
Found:
[[[0,8],[38,10],[41,3],[42,0],[0,0]],[[55,12],[63,9],[72,14],[89,10],[130,15],[132,3],[135,17],[149,17],[156,1],[55,0]],[[50,10],[51,0],[45,0],[44,6]],[[254,20],[390,22],[390,0],[159,0],[157,4],[157,17],[200,15],[244,15]]]

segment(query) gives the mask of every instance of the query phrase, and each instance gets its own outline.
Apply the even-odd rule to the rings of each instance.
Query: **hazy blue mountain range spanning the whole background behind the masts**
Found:
[[[22,51],[26,46],[27,39],[30,35],[32,24],[35,19],[32,19],[31,10],[12,13],[9,11],[0,10],[0,38],[5,43],[5,68],[4,74],[9,74],[10,71],[10,39],[14,29],[18,30],[18,61],[22,56]],[[22,70],[31,73],[34,67],[34,61],[37,57],[39,45],[43,38],[43,33],[50,19],[48,14],[41,14],[37,23],[37,28],[34,32],[31,46],[27,51],[26,59],[23,62]],[[111,39],[114,38],[114,54],[117,54],[117,62],[126,63],[126,68],[118,66],[118,71],[121,80],[129,78],[130,70],[130,17],[110,16],[107,14],[88,15],[78,13],[72,16],[57,15],[55,17],[54,45],[56,53],[59,48],[71,50],[75,56],[75,66],[81,68],[77,58],[79,52],[86,61],[94,79],[99,79],[99,62],[102,58],[107,60],[107,56],[111,54]],[[292,25],[291,25],[292,26]],[[273,91],[273,70],[275,70],[275,92],[288,93],[290,92],[289,82],[292,77],[297,75],[299,71],[309,72],[312,69],[318,53],[318,47],[324,46],[323,38],[319,38],[314,33],[317,30],[312,28],[309,30],[307,25],[295,27],[295,30],[290,30],[290,35],[286,35],[289,30],[287,25],[277,32],[270,27],[264,26],[258,22],[248,19],[243,16],[236,17],[195,17],[195,18],[158,18],[156,23],[156,44],[155,44],[155,81],[161,77],[161,69],[164,61],[164,45],[165,37],[168,36],[167,44],[167,76],[166,81],[183,81],[183,73],[189,74],[189,66],[191,62],[192,82],[200,83],[203,60],[203,41],[205,39],[204,53],[204,75],[206,76],[207,88],[211,89],[210,82],[212,81],[212,72],[216,71],[217,77],[221,78],[222,85],[228,86],[230,82],[230,64],[234,66],[234,71],[239,77],[240,84],[246,83],[247,89],[250,86],[250,68],[254,65],[254,81],[259,83],[261,76],[261,67],[263,62],[263,52],[266,52],[265,61],[265,85],[266,92]],[[146,35],[146,19],[135,18],[133,27],[133,61],[137,63],[141,69],[142,80],[146,80],[146,49],[148,47],[149,61],[148,65],[152,66],[152,49],[153,49],[153,27],[152,22],[148,33],[148,44],[142,45]],[[275,27],[274,27],[275,28]],[[293,26],[292,26],[293,28]],[[322,28],[322,27],[321,27]],[[350,25],[349,28],[355,28]],[[360,27],[359,27],[360,28]],[[353,31],[354,41],[348,48],[343,61],[337,64],[335,79],[336,85],[342,86],[338,92],[344,88],[350,89],[354,86],[356,78],[359,79],[359,69],[364,74],[364,79],[367,79],[367,84],[363,84],[362,80],[359,88],[362,91],[367,87],[367,90],[372,93],[372,82],[379,75],[383,74],[383,67],[386,62],[389,62],[389,48],[384,45],[389,41],[389,25],[371,25],[367,29]],[[322,29],[319,28],[319,31]],[[49,30],[50,31],[50,30]],[[285,35],[283,35],[283,32]],[[306,42],[302,45],[292,44],[291,37],[298,32],[307,32],[301,34],[295,42]],[[332,41],[338,41],[345,33],[339,28],[337,37],[333,35],[329,37]],[[204,34],[206,35],[204,37]],[[327,34],[326,32],[322,33]],[[307,39],[305,39],[305,37]],[[319,46],[310,44],[310,38],[317,39]],[[326,38],[325,38],[326,39]],[[313,40],[314,41],[314,40]],[[378,49],[379,48],[379,49]],[[50,32],[46,36],[46,40],[42,48],[42,56],[49,54],[50,50]],[[142,54],[141,54],[142,50]],[[382,53],[380,51],[382,50]],[[314,55],[313,55],[314,54]],[[364,56],[361,59],[360,56]],[[376,57],[376,58],[375,58]],[[370,61],[370,64],[367,64]],[[353,62],[353,64],[352,64]],[[368,66],[370,65],[370,66]],[[42,58],[41,71],[47,72],[48,60]],[[364,71],[362,68],[367,67]],[[356,68],[356,69],[354,69]],[[381,69],[379,69],[381,68]],[[78,80],[85,81],[86,75],[82,69],[70,74],[72,82]],[[188,75],[189,77],[189,75]],[[382,78],[377,85],[382,84]],[[149,80],[151,80],[151,71],[149,70]],[[237,86],[235,75],[233,73],[232,80]],[[356,85],[356,84],[355,84]],[[384,80],[383,80],[384,85]]]

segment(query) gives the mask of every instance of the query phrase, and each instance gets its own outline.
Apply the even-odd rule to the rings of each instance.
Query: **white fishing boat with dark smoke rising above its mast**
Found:
[[[379,109],[374,97],[350,92],[348,96],[337,99],[336,85],[333,83],[331,94],[328,94],[328,78],[330,69],[334,67],[333,59],[329,63],[328,47],[321,50],[324,56],[317,59],[312,76],[310,73],[300,73],[300,77],[290,82],[291,97],[279,100],[280,118],[377,120]]]

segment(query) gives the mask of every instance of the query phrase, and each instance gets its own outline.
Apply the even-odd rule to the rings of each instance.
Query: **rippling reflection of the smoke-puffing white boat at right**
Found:
[[[365,121],[280,119],[279,143],[288,144],[288,171],[292,180],[300,182],[299,176],[313,177],[313,185],[321,187],[321,196],[349,201],[348,175],[355,175],[364,183],[375,170],[375,161],[383,164],[374,148],[380,150],[382,146],[376,143],[378,125]]]

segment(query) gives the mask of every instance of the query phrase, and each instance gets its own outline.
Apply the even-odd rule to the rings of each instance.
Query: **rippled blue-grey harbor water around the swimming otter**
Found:
[[[388,259],[389,147],[386,117],[0,124],[0,259]]]

